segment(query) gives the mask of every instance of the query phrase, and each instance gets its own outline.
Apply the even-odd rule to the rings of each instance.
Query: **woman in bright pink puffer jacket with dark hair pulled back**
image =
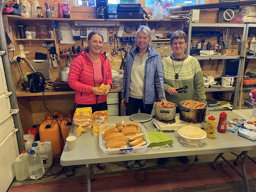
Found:
[[[107,94],[113,87],[112,73],[106,53],[100,53],[103,45],[103,36],[97,30],[89,33],[87,44],[76,59],[71,62],[68,85],[76,90],[76,108],[91,107],[92,113],[95,111],[108,110]],[[100,91],[101,84],[106,86],[105,90]],[[97,164],[101,170],[105,169],[104,163]],[[70,166],[70,174],[74,175],[75,167]]]

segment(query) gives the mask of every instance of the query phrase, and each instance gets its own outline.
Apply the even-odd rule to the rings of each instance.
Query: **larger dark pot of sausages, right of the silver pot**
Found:
[[[189,123],[201,123],[205,120],[207,105],[204,108],[189,108],[182,104],[186,101],[194,102],[193,100],[185,100],[180,102],[180,119]]]

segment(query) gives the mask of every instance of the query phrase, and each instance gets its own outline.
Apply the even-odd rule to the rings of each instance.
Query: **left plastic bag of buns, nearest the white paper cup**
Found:
[[[74,123],[74,134],[76,137],[79,137],[81,133],[89,132],[92,129],[92,108],[84,107],[84,108],[76,108],[73,117]]]

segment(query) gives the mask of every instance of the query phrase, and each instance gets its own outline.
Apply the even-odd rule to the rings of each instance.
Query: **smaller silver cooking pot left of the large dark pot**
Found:
[[[162,103],[162,101],[157,103]],[[165,120],[165,121],[170,121],[175,119],[176,107],[177,107],[175,103],[173,103],[175,105],[175,107],[173,108],[158,107],[156,106],[157,103],[155,103],[155,117],[157,119]]]

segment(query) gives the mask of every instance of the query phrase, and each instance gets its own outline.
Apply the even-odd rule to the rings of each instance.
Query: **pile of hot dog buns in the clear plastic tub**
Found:
[[[105,139],[108,149],[127,148],[126,144],[132,147],[140,147],[147,144],[143,140],[144,133],[140,133],[138,122],[125,122],[108,126],[102,131],[102,138]]]

